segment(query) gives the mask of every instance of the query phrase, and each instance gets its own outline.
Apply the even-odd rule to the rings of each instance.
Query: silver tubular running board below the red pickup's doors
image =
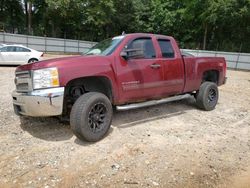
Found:
[[[128,104],[128,105],[116,106],[116,109],[118,111],[133,110],[137,108],[144,108],[144,107],[154,106],[154,105],[163,104],[167,102],[178,101],[178,100],[189,98],[190,96],[191,96],[190,94],[178,95],[178,96],[169,97],[169,98],[160,99],[160,100],[152,100],[152,101],[146,101],[142,103],[133,103],[133,104]]]

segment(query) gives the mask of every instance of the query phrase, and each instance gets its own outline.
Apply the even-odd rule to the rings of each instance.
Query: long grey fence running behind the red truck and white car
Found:
[[[29,35],[9,34],[3,32],[0,32],[0,43],[22,44],[38,51],[61,53],[83,53],[96,44],[95,42],[89,41],[36,37]],[[227,61],[227,66],[229,68],[250,70],[250,54],[247,53],[190,49],[184,49],[184,51],[191,53],[195,56],[224,57]]]

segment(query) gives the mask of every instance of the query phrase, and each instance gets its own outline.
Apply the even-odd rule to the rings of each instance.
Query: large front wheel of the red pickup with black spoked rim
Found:
[[[72,107],[70,126],[80,140],[97,142],[107,134],[112,115],[111,102],[105,95],[86,93]]]

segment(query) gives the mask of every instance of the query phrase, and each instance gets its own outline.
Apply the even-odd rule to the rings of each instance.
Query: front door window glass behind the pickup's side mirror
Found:
[[[156,53],[151,38],[135,39],[128,45],[127,49],[142,50],[145,59],[156,58]]]

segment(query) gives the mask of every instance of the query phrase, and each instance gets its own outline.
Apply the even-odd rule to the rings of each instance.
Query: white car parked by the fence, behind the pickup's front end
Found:
[[[0,64],[22,65],[40,61],[43,52],[27,48],[22,45],[4,45],[0,47]]]

